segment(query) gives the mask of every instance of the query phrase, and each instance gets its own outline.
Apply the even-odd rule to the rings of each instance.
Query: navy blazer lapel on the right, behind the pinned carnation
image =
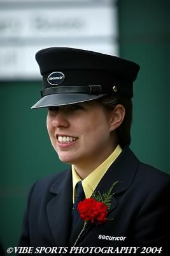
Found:
[[[120,156],[118,156],[115,162],[111,164],[110,168],[97,185],[96,192],[99,191],[101,194],[104,194],[108,193],[109,189],[115,181],[118,181],[118,183],[113,188],[114,195],[111,198],[111,207],[108,211],[108,218],[113,210],[117,207],[117,194],[123,193],[131,186],[138,165],[139,160],[136,158],[136,156],[134,156],[131,149],[126,147],[124,150],[122,150],[122,153]],[[78,243],[82,241],[83,237],[85,237],[87,233],[90,232],[90,230],[92,230],[94,227],[94,225],[89,225],[81,235]],[[69,239],[69,246],[73,246],[82,228],[83,221],[79,220]]]

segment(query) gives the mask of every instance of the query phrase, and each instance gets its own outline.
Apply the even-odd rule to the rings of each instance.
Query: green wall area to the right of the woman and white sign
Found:
[[[119,1],[120,56],[141,65],[134,84],[132,149],[170,172],[170,1]]]

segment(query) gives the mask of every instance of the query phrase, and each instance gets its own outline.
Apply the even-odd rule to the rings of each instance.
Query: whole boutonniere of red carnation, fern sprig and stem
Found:
[[[111,207],[111,198],[115,194],[113,192],[113,187],[118,183],[118,181],[114,182],[108,193],[104,193],[101,195],[100,191],[94,191],[90,198],[86,198],[78,204],[78,212],[80,214],[80,218],[84,221],[83,229],[78,235],[73,247],[78,242],[81,234],[90,224],[102,225],[106,223],[108,220],[113,220],[107,218],[108,210]]]

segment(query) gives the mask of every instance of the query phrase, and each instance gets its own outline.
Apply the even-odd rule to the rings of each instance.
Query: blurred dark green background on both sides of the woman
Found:
[[[141,65],[134,83],[131,148],[170,172],[169,17],[166,0],[118,1],[120,56]],[[41,82],[1,82],[0,241],[17,246],[27,191],[34,180],[66,168],[46,132],[46,109],[31,110]]]

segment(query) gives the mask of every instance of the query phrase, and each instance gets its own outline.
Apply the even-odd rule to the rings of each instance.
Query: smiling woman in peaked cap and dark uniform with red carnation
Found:
[[[149,246],[167,255],[170,177],[141,163],[129,148],[139,65],[57,47],[39,51],[36,60],[43,90],[32,108],[48,108],[52,146],[71,167],[32,186],[20,246]],[[60,84],[48,79],[56,73],[64,76]],[[104,207],[103,212],[87,211],[85,202]],[[89,214],[104,221],[89,221]],[[100,239],[100,234],[126,239]]]

